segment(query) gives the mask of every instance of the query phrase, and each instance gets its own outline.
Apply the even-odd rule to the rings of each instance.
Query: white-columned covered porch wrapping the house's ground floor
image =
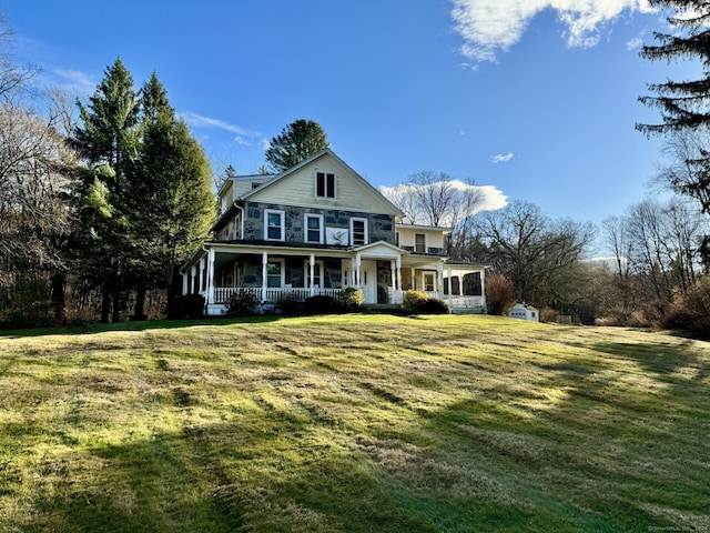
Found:
[[[363,291],[365,304],[400,305],[404,291],[414,289],[447,301],[455,312],[483,312],[483,271],[478,294],[467,294],[469,266],[454,269],[443,258],[416,258],[386,242],[351,249],[206,242],[182,269],[182,292],[202,294],[209,315],[225,314],[240,290],[252,292],[267,312],[283,302],[337,298],[351,286]]]

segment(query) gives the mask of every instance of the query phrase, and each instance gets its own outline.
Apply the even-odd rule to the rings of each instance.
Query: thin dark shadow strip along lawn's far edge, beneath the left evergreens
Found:
[[[258,315],[239,319],[205,318],[196,320],[145,320],[136,322],[113,322],[110,324],[88,324],[78,328],[38,328],[27,330],[0,331],[0,339],[17,339],[21,336],[44,336],[44,335],[84,335],[103,333],[106,331],[146,331],[146,330],[175,330],[192,328],[197,325],[230,325],[230,324],[261,324],[276,322],[285,316],[281,315]]]

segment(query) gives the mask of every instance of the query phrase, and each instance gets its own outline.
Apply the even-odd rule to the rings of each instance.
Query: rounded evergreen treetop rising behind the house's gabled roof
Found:
[[[266,150],[266,161],[276,172],[283,172],[329,147],[328,138],[321,124],[313,120],[298,119],[271,140]]]

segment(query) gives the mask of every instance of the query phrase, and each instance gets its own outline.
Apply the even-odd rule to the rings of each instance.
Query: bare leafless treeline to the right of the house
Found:
[[[549,321],[710,332],[710,224],[692,197],[649,199],[597,228],[520,200],[491,210],[474,180],[444,172],[418,172],[383,193],[406,223],[452,228],[453,261],[490,266],[490,313],[525,302]]]

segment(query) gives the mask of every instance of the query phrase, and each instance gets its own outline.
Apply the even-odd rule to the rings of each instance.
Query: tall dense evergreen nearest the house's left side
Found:
[[[215,217],[212,171],[202,147],[175,118],[155,73],[141,90],[143,140],[130,180],[135,314],[145,289],[164,288],[173,302],[178,266],[205,239]],[[169,309],[170,312],[170,309]]]

